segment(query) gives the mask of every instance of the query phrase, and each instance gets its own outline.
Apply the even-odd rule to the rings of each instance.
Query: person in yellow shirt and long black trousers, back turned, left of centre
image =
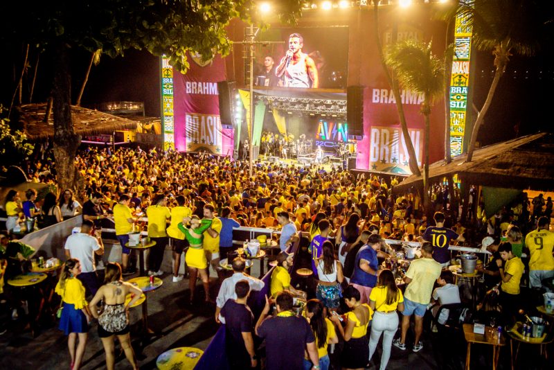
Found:
[[[156,245],[150,248],[148,255],[148,270],[150,275],[159,276],[163,274],[160,270],[163,261],[163,252],[168,245],[168,220],[171,218],[171,212],[167,207],[168,198],[163,194],[154,195],[152,205],[146,209],[148,217],[148,236]]]

